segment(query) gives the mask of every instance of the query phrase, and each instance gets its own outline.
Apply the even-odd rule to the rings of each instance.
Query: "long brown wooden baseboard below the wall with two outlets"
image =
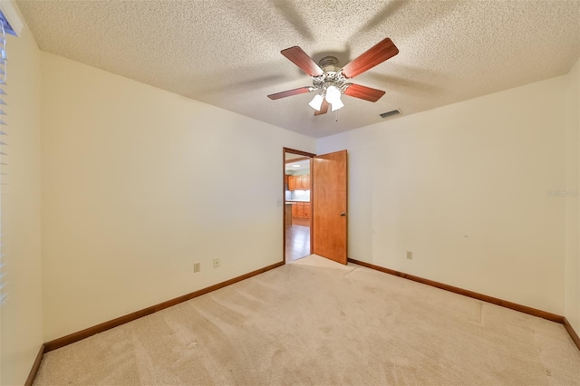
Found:
[[[79,331],[77,333],[71,333],[69,335],[63,336],[62,338],[54,339],[53,341],[44,343],[44,352],[51,352],[53,350],[59,349],[63,346],[66,346],[67,344],[75,343],[75,342],[78,342],[84,338],[88,338],[89,336],[92,336],[95,333],[102,333],[104,331],[110,330],[113,327],[117,327],[121,324],[129,323],[129,322],[134,321],[136,319],[139,319],[143,316],[157,313],[158,311],[161,311],[161,310],[168,308],[172,305],[176,305],[176,304],[188,301],[189,299],[193,299],[194,297],[198,297],[202,294],[208,294],[212,291],[216,291],[219,288],[223,288],[227,285],[233,285],[234,283],[240,282],[242,280],[245,280],[245,279],[252,277],[252,276],[255,276],[255,275],[262,274],[266,271],[277,268],[278,266],[281,266],[284,264],[285,264],[284,262],[278,262],[278,263],[275,263],[273,265],[268,265],[264,268],[256,269],[256,271],[252,271],[250,273],[247,273],[246,275],[237,276],[237,277],[234,277],[233,279],[226,280],[225,282],[218,283],[217,285],[211,285],[211,286],[208,286],[206,288],[202,288],[198,291],[192,292],[190,294],[184,294],[184,295],[181,295],[179,297],[176,297],[175,299],[171,299],[171,300],[168,300],[166,302],[156,304],[156,305],[151,305],[150,307],[144,308],[140,311],[136,311],[136,312],[131,313],[131,314],[126,314],[126,315],[123,315],[123,316],[118,317],[116,319],[113,319],[111,321],[94,325],[92,327],[86,328],[86,329]]]

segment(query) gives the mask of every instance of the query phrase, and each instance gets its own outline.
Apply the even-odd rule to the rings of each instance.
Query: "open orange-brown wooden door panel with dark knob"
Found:
[[[346,265],[346,150],[316,156],[312,164],[313,253]]]

